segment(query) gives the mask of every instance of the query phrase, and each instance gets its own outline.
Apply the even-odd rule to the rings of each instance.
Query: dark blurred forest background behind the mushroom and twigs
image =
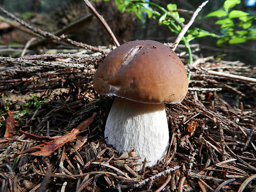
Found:
[[[178,9],[195,11],[203,0],[151,0],[161,7],[167,4],[176,4]],[[209,3],[199,12],[192,27],[198,27],[213,32],[218,28],[216,17],[205,18],[210,12],[221,9],[224,0],[210,0]],[[107,20],[114,31],[120,44],[136,39],[152,39],[162,43],[173,42],[176,34],[171,33],[164,25],[159,25],[157,20],[145,17],[137,19],[134,13],[121,14],[115,6],[115,1],[105,2],[97,0],[92,2],[97,11]],[[14,13],[21,19],[45,31],[54,32],[71,22],[90,14],[83,0],[0,0],[0,6]],[[253,16],[256,15],[256,0],[242,0],[235,9],[242,10]],[[5,15],[1,14],[6,17]],[[180,12],[180,17],[189,21],[192,12]],[[254,20],[255,22],[255,20]],[[0,25],[1,26],[1,25]],[[256,28],[255,23],[251,28]],[[90,24],[81,26],[67,34],[71,39],[81,41],[90,45],[112,44],[107,32],[94,17]],[[26,44],[32,36],[15,28],[0,27],[1,45]],[[216,39],[203,37],[190,42],[200,44],[200,54],[204,57],[214,56],[225,60],[239,60],[249,65],[255,65],[256,42],[249,40],[245,43],[227,45],[226,47],[216,46]],[[47,44],[43,47],[59,48],[64,45]],[[67,47],[65,47],[67,48]]]

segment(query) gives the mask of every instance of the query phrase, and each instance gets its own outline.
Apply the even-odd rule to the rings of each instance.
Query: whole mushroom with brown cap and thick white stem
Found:
[[[164,103],[182,102],[188,89],[180,58],[153,40],[125,43],[107,55],[93,85],[97,93],[115,95],[105,127],[107,144],[117,151],[136,149],[153,166],[168,150]]]

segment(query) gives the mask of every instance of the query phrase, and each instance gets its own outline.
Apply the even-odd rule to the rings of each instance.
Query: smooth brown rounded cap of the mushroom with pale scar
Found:
[[[98,67],[93,85],[143,103],[180,103],[187,94],[187,73],[176,53],[153,40],[135,40],[109,53]]]

